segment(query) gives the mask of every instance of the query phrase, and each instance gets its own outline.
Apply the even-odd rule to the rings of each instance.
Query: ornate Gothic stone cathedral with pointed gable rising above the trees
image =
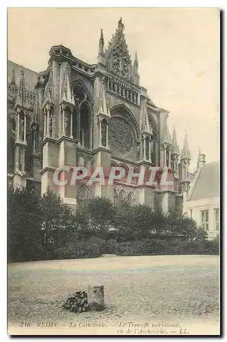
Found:
[[[182,211],[192,176],[187,135],[180,152],[176,129],[172,135],[168,129],[168,110],[157,107],[139,83],[137,53],[132,60],[122,18],[106,48],[101,30],[97,52],[96,63],[87,64],[67,47],[53,46],[40,73],[8,61],[8,183],[41,193],[51,187],[72,208],[105,196]],[[63,166],[89,172],[75,185],[58,186],[53,174]],[[122,177],[88,186],[94,168],[111,166],[125,174],[157,167],[156,185],[136,178],[128,184]],[[160,181],[164,170],[166,184]]]

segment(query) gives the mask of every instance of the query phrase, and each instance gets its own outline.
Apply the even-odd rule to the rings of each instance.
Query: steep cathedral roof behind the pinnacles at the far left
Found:
[[[7,68],[7,79],[8,83],[12,81],[12,70],[14,70],[14,77],[16,81],[16,86],[20,83],[21,79],[21,70],[25,73],[25,88],[26,90],[29,90],[31,92],[35,91],[35,86],[38,81],[38,73],[36,73],[34,70],[30,70],[28,68],[25,68],[25,66],[21,66],[19,64],[16,64],[14,62],[11,62],[8,60],[8,68]]]

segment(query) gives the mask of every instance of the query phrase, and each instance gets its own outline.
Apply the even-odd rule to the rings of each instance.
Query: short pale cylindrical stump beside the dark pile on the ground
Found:
[[[88,286],[88,304],[91,311],[104,309],[104,285]]]

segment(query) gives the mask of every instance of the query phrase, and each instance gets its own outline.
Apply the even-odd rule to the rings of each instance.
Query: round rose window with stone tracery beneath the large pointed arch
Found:
[[[126,120],[118,116],[109,120],[109,146],[119,155],[129,153],[133,148],[133,130]]]

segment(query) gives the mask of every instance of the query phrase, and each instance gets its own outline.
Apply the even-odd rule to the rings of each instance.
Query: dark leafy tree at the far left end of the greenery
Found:
[[[43,232],[40,196],[34,188],[8,189],[8,256],[10,261],[39,259]]]

